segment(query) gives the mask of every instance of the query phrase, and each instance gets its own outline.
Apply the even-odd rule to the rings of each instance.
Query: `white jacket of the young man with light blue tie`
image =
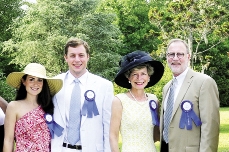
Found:
[[[63,142],[66,142],[64,139],[67,132],[66,110],[68,109],[67,104],[70,104],[71,97],[71,91],[69,92],[70,95],[66,94],[66,91],[69,91],[69,85],[66,81],[66,78],[69,74],[70,72],[68,71],[56,77],[61,78],[64,84],[63,88],[53,97],[53,103],[55,106],[53,117],[54,120],[64,128],[64,131],[62,136],[57,137],[55,135],[54,139],[52,139],[52,152],[62,152],[63,149],[66,149],[63,148],[62,145]],[[82,87],[81,95],[84,97],[84,93],[87,90],[93,90],[95,92],[95,102],[99,111],[99,115],[93,116],[93,118],[87,118],[87,116],[82,116],[80,128],[82,152],[110,152],[111,150],[109,144],[109,128],[111,117],[111,104],[114,98],[113,84],[112,82],[96,76],[92,73],[88,72],[85,74],[79,78],[80,88]],[[81,78],[83,78],[84,76],[86,81],[81,80]],[[81,99],[81,105],[83,105],[83,103],[84,98]],[[80,144],[77,143],[77,145]]]

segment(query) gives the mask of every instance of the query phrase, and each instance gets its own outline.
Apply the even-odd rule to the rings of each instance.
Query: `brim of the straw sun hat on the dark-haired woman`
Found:
[[[22,77],[25,74],[26,73],[24,72],[12,72],[7,76],[6,83],[15,89],[19,89],[21,85]],[[43,78],[43,79],[47,80],[47,83],[50,89],[50,93],[52,96],[55,95],[57,92],[59,92],[60,89],[62,88],[63,81],[61,79],[54,79],[54,78]]]

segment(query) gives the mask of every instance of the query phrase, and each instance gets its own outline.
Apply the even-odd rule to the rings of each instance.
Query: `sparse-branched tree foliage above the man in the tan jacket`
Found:
[[[191,54],[191,65],[205,58],[203,52],[215,47],[228,37],[228,14],[224,3],[218,1],[167,1],[164,6],[151,7],[148,16],[153,25],[160,30],[159,39],[163,47],[159,48],[164,53],[167,41],[172,38],[181,38],[187,41]],[[212,45],[209,39],[217,41]],[[204,48],[203,50],[199,49]]]

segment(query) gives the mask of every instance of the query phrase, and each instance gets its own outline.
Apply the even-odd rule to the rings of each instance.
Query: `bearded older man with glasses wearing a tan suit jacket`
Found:
[[[167,64],[173,80],[163,88],[161,152],[217,152],[219,93],[209,76],[190,69],[188,45],[173,39],[167,47]]]

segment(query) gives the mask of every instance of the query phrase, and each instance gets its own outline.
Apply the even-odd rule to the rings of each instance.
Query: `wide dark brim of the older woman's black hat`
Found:
[[[155,60],[152,61],[140,60],[138,63],[135,63],[133,65],[121,69],[115,77],[115,83],[123,88],[131,89],[131,84],[129,83],[128,78],[126,78],[125,72],[143,63],[149,63],[154,68],[154,73],[150,76],[150,81],[148,82],[145,88],[155,85],[162,78],[164,74],[163,64]]]

